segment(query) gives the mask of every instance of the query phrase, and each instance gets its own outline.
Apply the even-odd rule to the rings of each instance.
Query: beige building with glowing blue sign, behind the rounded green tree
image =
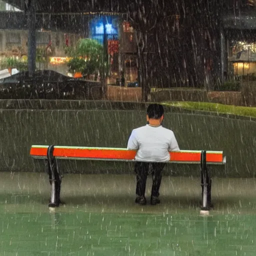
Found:
[[[0,25],[0,58],[27,56],[26,15],[4,1],[0,2],[0,7],[0,19],[3,21]],[[129,23],[126,22],[126,26],[123,24],[123,18],[118,13],[111,12],[36,13],[37,60],[40,59],[38,56],[40,50],[46,49],[50,57],[48,62],[37,61],[36,67],[54,69],[66,74],[65,47],[74,47],[79,38],[90,37],[102,44],[107,53],[110,66],[108,83],[119,84],[122,73],[126,83],[135,81],[137,78],[135,38]]]

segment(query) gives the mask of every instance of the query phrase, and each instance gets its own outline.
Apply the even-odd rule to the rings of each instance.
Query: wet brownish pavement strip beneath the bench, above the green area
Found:
[[[147,180],[149,202],[151,176]],[[134,203],[135,176],[114,174],[65,174],[58,211],[116,213],[199,213],[200,179],[163,176],[161,203],[141,206]],[[46,173],[0,172],[0,204],[3,211],[48,211],[50,185]],[[211,214],[254,213],[256,180],[253,178],[213,178]],[[2,211],[0,210],[0,212]]]

